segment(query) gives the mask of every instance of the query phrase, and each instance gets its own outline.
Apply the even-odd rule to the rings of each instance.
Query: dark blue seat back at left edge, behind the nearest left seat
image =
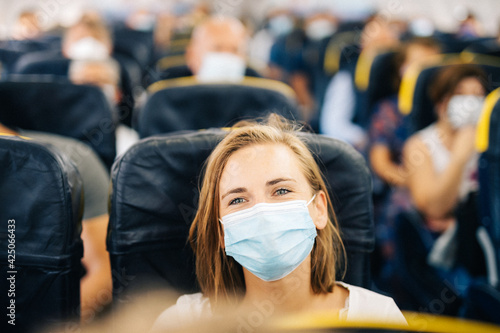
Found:
[[[4,125],[83,141],[111,167],[115,124],[99,88],[59,81],[5,81],[0,82],[0,104]]]

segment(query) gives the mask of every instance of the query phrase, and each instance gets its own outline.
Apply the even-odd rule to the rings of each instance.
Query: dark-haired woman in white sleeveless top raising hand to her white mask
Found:
[[[443,69],[430,88],[437,121],[413,135],[403,149],[413,201],[434,231],[451,227],[457,203],[477,189],[475,130],[487,82],[475,65]],[[419,165],[412,163],[415,152],[422,156]]]

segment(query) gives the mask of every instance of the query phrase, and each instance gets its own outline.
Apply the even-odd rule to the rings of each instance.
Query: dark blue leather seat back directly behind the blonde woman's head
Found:
[[[107,246],[114,300],[151,285],[198,290],[188,230],[198,207],[202,166],[227,134],[222,130],[173,133],[144,139],[112,170]],[[303,134],[327,183],[347,249],[344,281],[370,287],[374,245],[371,178],[362,156],[332,138]]]

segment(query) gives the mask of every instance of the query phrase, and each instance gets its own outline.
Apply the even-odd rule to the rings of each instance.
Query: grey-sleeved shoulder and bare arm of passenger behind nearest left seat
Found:
[[[82,177],[84,211],[81,238],[85,275],[80,282],[80,315],[83,322],[92,320],[112,298],[111,265],[106,250],[109,220],[108,172],[92,149],[77,140],[35,131],[16,132],[1,123],[0,133],[24,135],[54,145],[68,155]]]

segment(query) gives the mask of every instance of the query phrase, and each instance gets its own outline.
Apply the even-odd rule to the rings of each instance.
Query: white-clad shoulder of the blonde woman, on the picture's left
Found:
[[[211,316],[210,301],[202,293],[183,295],[163,311],[153,325],[153,332],[180,328],[186,323]]]

